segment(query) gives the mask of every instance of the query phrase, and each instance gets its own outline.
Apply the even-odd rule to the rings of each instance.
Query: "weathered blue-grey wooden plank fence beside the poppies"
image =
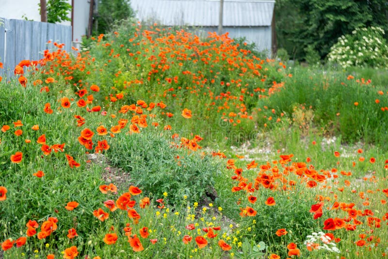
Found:
[[[21,60],[43,58],[43,51],[53,47],[47,45],[49,40],[64,43],[70,51],[71,26],[0,17],[0,62],[4,65],[0,75],[12,76]]]

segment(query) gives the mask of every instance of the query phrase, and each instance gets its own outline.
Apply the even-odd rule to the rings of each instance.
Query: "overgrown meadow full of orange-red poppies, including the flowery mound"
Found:
[[[387,76],[247,47],[126,24],[0,78],[0,258],[386,258]]]

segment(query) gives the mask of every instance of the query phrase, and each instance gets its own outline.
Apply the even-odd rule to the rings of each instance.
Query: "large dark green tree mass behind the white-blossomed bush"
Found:
[[[341,35],[356,28],[388,27],[387,0],[277,0],[279,48],[298,60],[313,47],[325,57]]]

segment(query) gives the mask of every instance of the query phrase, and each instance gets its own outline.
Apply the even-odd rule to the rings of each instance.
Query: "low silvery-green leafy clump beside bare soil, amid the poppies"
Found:
[[[178,204],[184,195],[199,201],[220,174],[219,163],[211,156],[201,157],[170,145],[164,136],[143,131],[112,146],[109,160],[130,172],[133,184],[146,193],[160,197],[166,192],[170,204]]]

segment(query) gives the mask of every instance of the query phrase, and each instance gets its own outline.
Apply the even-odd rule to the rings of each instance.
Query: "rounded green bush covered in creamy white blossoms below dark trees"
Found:
[[[349,66],[388,68],[388,46],[384,30],[379,27],[358,28],[352,34],[342,35],[331,47],[330,62],[343,68]]]

